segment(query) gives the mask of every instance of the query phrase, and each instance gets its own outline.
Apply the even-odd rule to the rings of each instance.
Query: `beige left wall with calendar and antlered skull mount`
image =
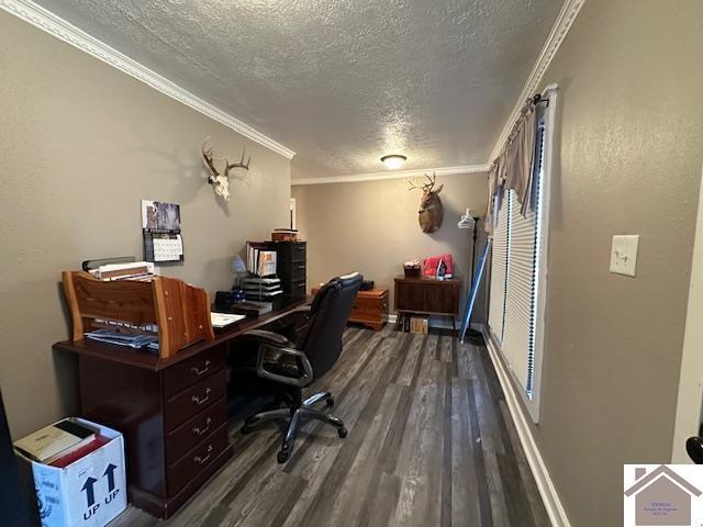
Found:
[[[16,437],[76,406],[60,271],[142,256],[140,200],[181,204],[186,261],[165,273],[232,285],[247,238],[288,224],[290,162],[97,59],[0,12],[0,386]],[[200,144],[246,144],[228,204],[203,183]]]

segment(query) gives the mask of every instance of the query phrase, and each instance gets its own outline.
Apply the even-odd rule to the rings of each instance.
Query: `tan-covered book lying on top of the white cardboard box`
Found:
[[[59,421],[14,441],[14,448],[25,456],[48,463],[56,457],[69,453],[96,438],[93,429],[69,419]]]

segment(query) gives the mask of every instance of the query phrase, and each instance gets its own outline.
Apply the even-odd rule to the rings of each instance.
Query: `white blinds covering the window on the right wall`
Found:
[[[515,378],[532,395],[537,327],[537,277],[542,236],[544,121],[536,137],[534,211],[523,217],[513,190],[503,197],[493,234],[489,326]]]

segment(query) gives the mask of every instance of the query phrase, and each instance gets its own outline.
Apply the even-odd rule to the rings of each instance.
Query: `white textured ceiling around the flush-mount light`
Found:
[[[484,164],[562,0],[38,0],[298,153],[293,177]]]

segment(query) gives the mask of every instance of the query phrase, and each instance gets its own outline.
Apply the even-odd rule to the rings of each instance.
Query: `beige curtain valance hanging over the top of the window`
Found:
[[[532,101],[528,101],[509,135],[503,152],[493,161],[488,172],[489,201],[488,217],[484,223],[488,234],[493,233],[493,222],[498,217],[505,190],[513,189],[515,191],[523,216],[533,206],[532,187],[536,125],[536,106]]]

